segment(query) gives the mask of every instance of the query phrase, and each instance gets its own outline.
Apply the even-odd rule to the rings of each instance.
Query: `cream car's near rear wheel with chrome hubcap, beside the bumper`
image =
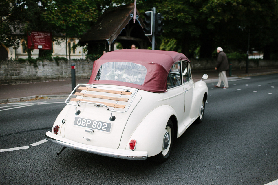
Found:
[[[174,127],[172,121],[169,119],[164,130],[164,137],[162,142],[162,149],[159,154],[153,156],[152,159],[158,163],[165,162],[170,155],[170,151],[173,145]]]

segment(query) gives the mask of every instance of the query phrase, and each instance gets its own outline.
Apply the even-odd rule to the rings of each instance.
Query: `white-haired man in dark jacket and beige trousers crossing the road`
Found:
[[[219,71],[219,78],[218,83],[215,87],[220,88],[221,81],[224,82],[223,88],[229,88],[228,79],[226,76],[226,71],[229,70],[229,64],[226,53],[223,52],[223,49],[221,47],[217,48],[218,58],[217,58],[217,65],[215,67],[215,70]]]

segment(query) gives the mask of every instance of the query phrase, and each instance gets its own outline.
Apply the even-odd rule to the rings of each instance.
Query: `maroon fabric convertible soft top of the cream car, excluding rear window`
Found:
[[[175,51],[122,49],[107,52],[94,62],[92,75],[88,84],[119,85],[150,92],[167,92],[167,75],[171,66],[180,60],[189,61],[184,54]],[[107,62],[131,62],[145,66],[147,74],[144,83],[138,85],[114,80],[95,80],[100,66]]]

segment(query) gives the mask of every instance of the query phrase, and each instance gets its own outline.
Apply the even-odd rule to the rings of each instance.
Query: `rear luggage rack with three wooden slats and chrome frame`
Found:
[[[86,87],[81,87],[81,86],[86,86]],[[78,88],[79,87],[79,88]],[[85,90],[85,93],[81,93],[81,92],[75,92],[76,89],[79,89],[79,90]],[[122,89],[122,91],[118,90],[118,89],[121,89],[121,88],[115,88],[115,87],[109,87],[109,89],[117,89],[117,90],[107,90],[107,89],[101,89],[101,88],[107,88],[107,87],[104,87],[104,86],[99,86],[99,85],[88,85],[88,84],[78,84],[74,90],[72,91],[72,93],[70,93],[69,97],[67,97],[65,103],[67,105],[73,105],[73,106],[76,106],[75,107],[75,111],[76,111],[76,115],[79,115],[80,114],[80,110],[77,110],[77,107],[81,107],[80,103],[89,103],[89,104],[93,104],[94,106],[97,106],[97,107],[106,107],[106,110],[107,111],[110,111],[111,114],[110,114],[110,121],[114,121],[116,118],[115,116],[112,116],[112,112],[126,112],[138,89],[134,90],[134,89]],[[94,94],[87,94],[87,92],[94,92]],[[75,92],[75,93],[74,93]],[[74,95],[76,96],[82,96],[81,98],[71,98],[69,100],[69,98],[71,97],[71,95],[74,93]],[[115,97],[115,96],[104,96],[104,95],[98,95],[98,93],[110,93],[110,94],[116,94],[116,95],[119,95],[119,97]],[[122,98],[121,96],[122,95],[127,95],[127,96],[130,96],[131,100],[129,98]],[[86,99],[83,99],[84,97],[89,97],[89,98],[94,98],[94,99],[100,99],[100,101],[92,101],[92,100],[86,100]],[[112,101],[116,101],[115,103],[108,103],[108,102],[102,102],[103,100],[112,100]],[[72,103],[67,103],[67,101],[76,101],[76,104],[72,104]],[[127,105],[127,108],[125,105],[122,105],[122,104],[118,104],[119,101],[122,101],[122,102],[128,102],[129,101],[129,104]],[[112,107],[112,110],[109,109],[108,107]],[[115,108],[122,108],[124,109],[123,111],[118,111],[118,110],[114,110]]]

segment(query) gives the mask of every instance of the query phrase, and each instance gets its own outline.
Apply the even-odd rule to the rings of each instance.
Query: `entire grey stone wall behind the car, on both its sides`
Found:
[[[76,65],[76,79],[88,79],[93,69],[93,61],[74,60],[69,62],[38,61],[38,67],[29,62],[0,61],[0,85],[31,82],[71,80],[71,64]],[[244,69],[245,61],[231,61],[232,69]],[[192,71],[214,70],[216,60],[191,60]],[[249,60],[249,68],[278,66],[278,61]]]

